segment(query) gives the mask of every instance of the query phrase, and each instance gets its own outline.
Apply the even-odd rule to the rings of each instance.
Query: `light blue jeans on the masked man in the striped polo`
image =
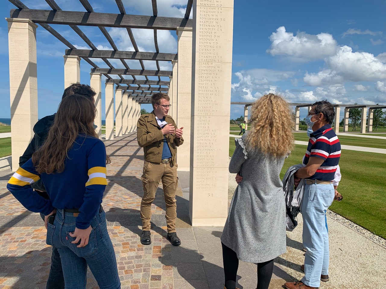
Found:
[[[320,275],[328,274],[330,251],[326,226],[326,210],[334,200],[332,184],[305,185],[301,214],[303,216],[303,245],[307,249],[304,260],[305,276],[301,282],[320,286]]]

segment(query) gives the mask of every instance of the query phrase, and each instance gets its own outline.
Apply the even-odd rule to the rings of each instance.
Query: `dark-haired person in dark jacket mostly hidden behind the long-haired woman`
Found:
[[[73,83],[66,89],[64,89],[62,99],[66,96],[72,94],[80,94],[90,98],[94,102],[95,91],[87,84]],[[23,155],[19,158],[19,166],[21,167],[26,163],[31,157],[32,154],[39,149],[48,136],[48,131],[54,123],[56,113],[45,116],[40,119],[34,126],[34,137],[32,141],[27,146],[27,149],[24,151]],[[42,183],[42,180],[38,180],[31,184],[31,187],[43,198],[49,199],[46,188]],[[44,215],[40,214],[44,220]],[[51,257],[51,269],[47,279],[46,289],[64,289],[64,277],[63,269],[61,264],[60,255],[58,249],[52,247],[52,257]]]

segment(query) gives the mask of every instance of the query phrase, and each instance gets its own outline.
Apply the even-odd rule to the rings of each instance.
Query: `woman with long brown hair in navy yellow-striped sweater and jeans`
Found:
[[[101,205],[110,158],[93,127],[96,113],[89,97],[64,97],[46,141],[7,185],[25,208],[45,215],[46,242],[58,249],[65,287],[71,289],[86,288],[87,265],[100,288],[120,288]],[[49,200],[31,188],[40,178]]]

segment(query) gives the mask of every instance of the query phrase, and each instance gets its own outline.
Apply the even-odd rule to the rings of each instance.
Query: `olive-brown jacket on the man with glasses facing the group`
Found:
[[[176,123],[170,116],[165,117],[167,123],[172,123],[174,128],[177,128]],[[141,148],[144,148],[145,160],[161,163],[162,150],[164,147],[164,136],[159,127],[156,116],[153,112],[142,114],[137,122],[137,139]],[[176,138],[175,134],[166,134],[169,148],[171,151],[171,166],[176,163],[177,146],[180,146],[184,139]]]

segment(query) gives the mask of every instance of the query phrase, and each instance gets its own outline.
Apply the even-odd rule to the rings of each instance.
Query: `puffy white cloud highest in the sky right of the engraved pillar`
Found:
[[[318,35],[298,32],[296,36],[292,32],[286,32],[284,26],[276,29],[269,37],[272,44],[266,51],[273,56],[288,56],[296,60],[317,60],[334,55],[337,50],[337,42],[328,33]]]

